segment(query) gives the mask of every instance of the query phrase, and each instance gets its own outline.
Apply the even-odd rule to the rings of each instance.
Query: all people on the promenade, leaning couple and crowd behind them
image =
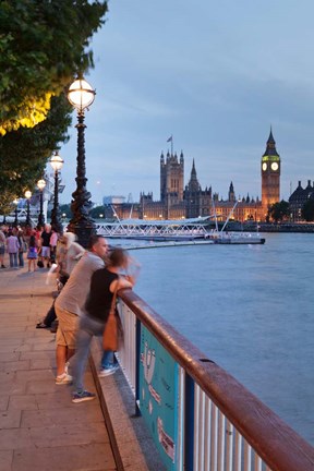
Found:
[[[57,385],[72,384],[72,401],[95,398],[84,387],[84,371],[93,336],[102,336],[117,291],[132,288],[140,265],[120,247],[109,250],[101,235],[92,235],[87,250],[72,232],[58,233],[50,225],[44,228],[0,228],[0,265],[11,269],[24,267],[29,273],[53,271],[58,295],[37,328],[48,328],[57,321]],[[46,270],[45,270],[46,268]],[[117,312],[116,312],[117,315]],[[56,331],[56,330],[55,330]],[[119,369],[114,352],[104,349],[99,376]]]

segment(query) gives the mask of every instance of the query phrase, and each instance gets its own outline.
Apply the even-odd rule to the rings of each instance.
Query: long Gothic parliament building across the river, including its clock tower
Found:
[[[270,130],[266,150],[261,159],[262,200],[254,200],[249,195],[238,201],[231,181],[228,198],[220,200],[212,186],[202,189],[195,161],[193,159],[191,176],[184,186],[184,156],[168,152],[160,156],[160,200],[154,201],[153,193],[141,193],[140,203],[114,204],[114,212],[119,218],[138,219],[184,219],[208,217],[216,215],[218,220],[226,220],[232,213],[232,218],[239,221],[264,221],[270,205],[279,202],[280,195],[280,156],[276,150],[276,142]],[[131,208],[132,206],[132,208]],[[109,209],[109,208],[108,208]],[[112,208],[111,208],[112,210]],[[110,209],[109,209],[110,212]],[[112,215],[107,214],[105,217]]]

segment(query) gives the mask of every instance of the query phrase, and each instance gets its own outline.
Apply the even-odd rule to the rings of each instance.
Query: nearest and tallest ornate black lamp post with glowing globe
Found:
[[[77,159],[76,159],[76,190],[72,193],[71,210],[73,217],[69,230],[77,235],[78,243],[87,246],[88,239],[96,233],[94,220],[89,217],[92,207],[90,193],[86,189],[85,167],[85,128],[84,111],[93,104],[96,92],[83,77],[75,80],[68,90],[68,99],[77,111]]]

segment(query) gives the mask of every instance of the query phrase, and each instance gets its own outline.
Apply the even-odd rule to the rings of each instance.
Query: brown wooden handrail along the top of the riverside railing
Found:
[[[119,297],[273,471],[314,471],[314,448],[132,290]]]

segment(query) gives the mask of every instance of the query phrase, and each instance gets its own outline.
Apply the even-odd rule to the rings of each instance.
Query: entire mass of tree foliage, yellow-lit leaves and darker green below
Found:
[[[0,193],[14,200],[43,177],[68,141],[72,108],[64,89],[94,67],[88,49],[106,1],[1,0]],[[59,144],[59,145],[58,145]]]

